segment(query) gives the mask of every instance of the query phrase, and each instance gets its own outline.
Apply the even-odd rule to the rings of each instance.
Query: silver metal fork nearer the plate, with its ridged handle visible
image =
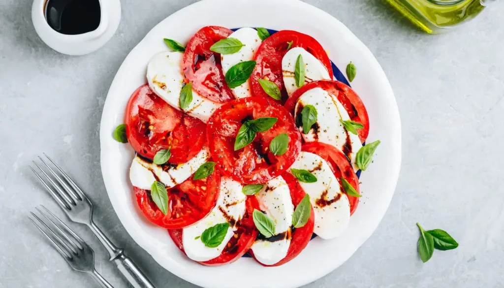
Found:
[[[86,197],[84,192],[75,184],[75,182],[63,171],[49,156],[43,153],[52,165],[59,171],[59,174],[48,165],[40,156],[40,161],[47,167],[49,177],[44,169],[42,169],[35,161],[33,163],[40,169],[49,184],[42,179],[40,175],[30,166],[30,169],[35,173],[42,185],[49,191],[51,196],[56,200],[59,206],[67,213],[69,218],[78,223],[88,225],[94,235],[100,240],[110,254],[110,261],[113,261],[119,271],[130,281],[135,288],[155,288],[154,285],[147,279],[144,273],[138,266],[126,255],[124,251],[116,247],[103,234],[98,226],[93,222],[93,204]]]

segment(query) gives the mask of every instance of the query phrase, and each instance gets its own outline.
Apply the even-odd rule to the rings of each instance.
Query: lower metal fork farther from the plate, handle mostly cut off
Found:
[[[47,234],[47,232],[45,232],[44,229],[40,227],[40,225],[37,224],[37,222],[35,222],[35,220],[33,220],[31,217],[28,217],[28,219],[30,219],[33,224],[37,226],[40,232],[45,237],[47,237],[47,239],[49,239],[49,241],[54,246],[54,248],[56,248],[59,254],[61,254],[61,256],[63,256],[63,258],[67,260],[67,262],[70,264],[70,266],[72,266],[72,268],[74,268],[74,270],[91,274],[102,287],[113,288],[113,286],[109,282],[107,282],[107,280],[105,280],[105,278],[103,278],[103,276],[100,275],[94,268],[93,249],[91,249],[91,247],[89,247],[86,242],[84,242],[79,236],[77,236],[77,234],[75,234],[75,232],[72,231],[69,226],[67,226],[58,217],[56,217],[56,215],[52,214],[51,211],[49,211],[44,206],[42,206],[42,208],[44,208],[44,210],[47,211],[53,217],[53,219],[55,219],[56,222],[59,223],[59,225],[54,223],[54,221],[52,221],[51,218],[49,218],[44,212],[35,207],[35,209],[37,209],[37,211],[52,224],[49,225],[56,228],[57,232],[59,232],[59,235],[65,238],[66,242],[62,240],[57,233],[54,232],[54,228],[51,229],[49,225],[42,221],[33,212],[30,212],[32,216],[37,219],[38,222],[42,223],[42,225],[45,227],[45,230],[48,230],[51,236],[49,236],[49,234]],[[75,241],[70,237],[73,237]]]

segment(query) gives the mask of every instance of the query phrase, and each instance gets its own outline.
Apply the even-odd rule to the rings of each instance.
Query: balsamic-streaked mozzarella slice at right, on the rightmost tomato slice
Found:
[[[333,145],[345,153],[355,166],[355,155],[362,147],[359,136],[348,132],[340,120],[350,120],[345,107],[335,95],[322,88],[313,88],[304,92],[297,99],[295,107],[296,119],[301,119],[301,111],[306,105],[313,105],[317,109],[317,123],[308,134],[303,133],[303,125],[296,123],[305,142],[322,142]]]

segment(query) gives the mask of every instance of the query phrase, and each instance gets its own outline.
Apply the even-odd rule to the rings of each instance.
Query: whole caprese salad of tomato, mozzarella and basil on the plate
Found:
[[[380,141],[363,144],[366,108],[334,80],[322,45],[218,26],[185,46],[164,41],[171,51],[152,56],[114,131],[137,152],[130,180],[145,218],[204,265],[248,253],[278,266],[313,234],[344,233],[361,196],[356,171]]]

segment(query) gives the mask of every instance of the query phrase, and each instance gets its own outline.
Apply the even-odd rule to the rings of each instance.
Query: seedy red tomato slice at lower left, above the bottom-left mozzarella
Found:
[[[215,207],[221,177],[214,171],[201,180],[189,178],[168,189],[168,213],[159,210],[150,191],[134,187],[137,203],[144,216],[152,223],[167,229],[180,229],[203,219]]]

